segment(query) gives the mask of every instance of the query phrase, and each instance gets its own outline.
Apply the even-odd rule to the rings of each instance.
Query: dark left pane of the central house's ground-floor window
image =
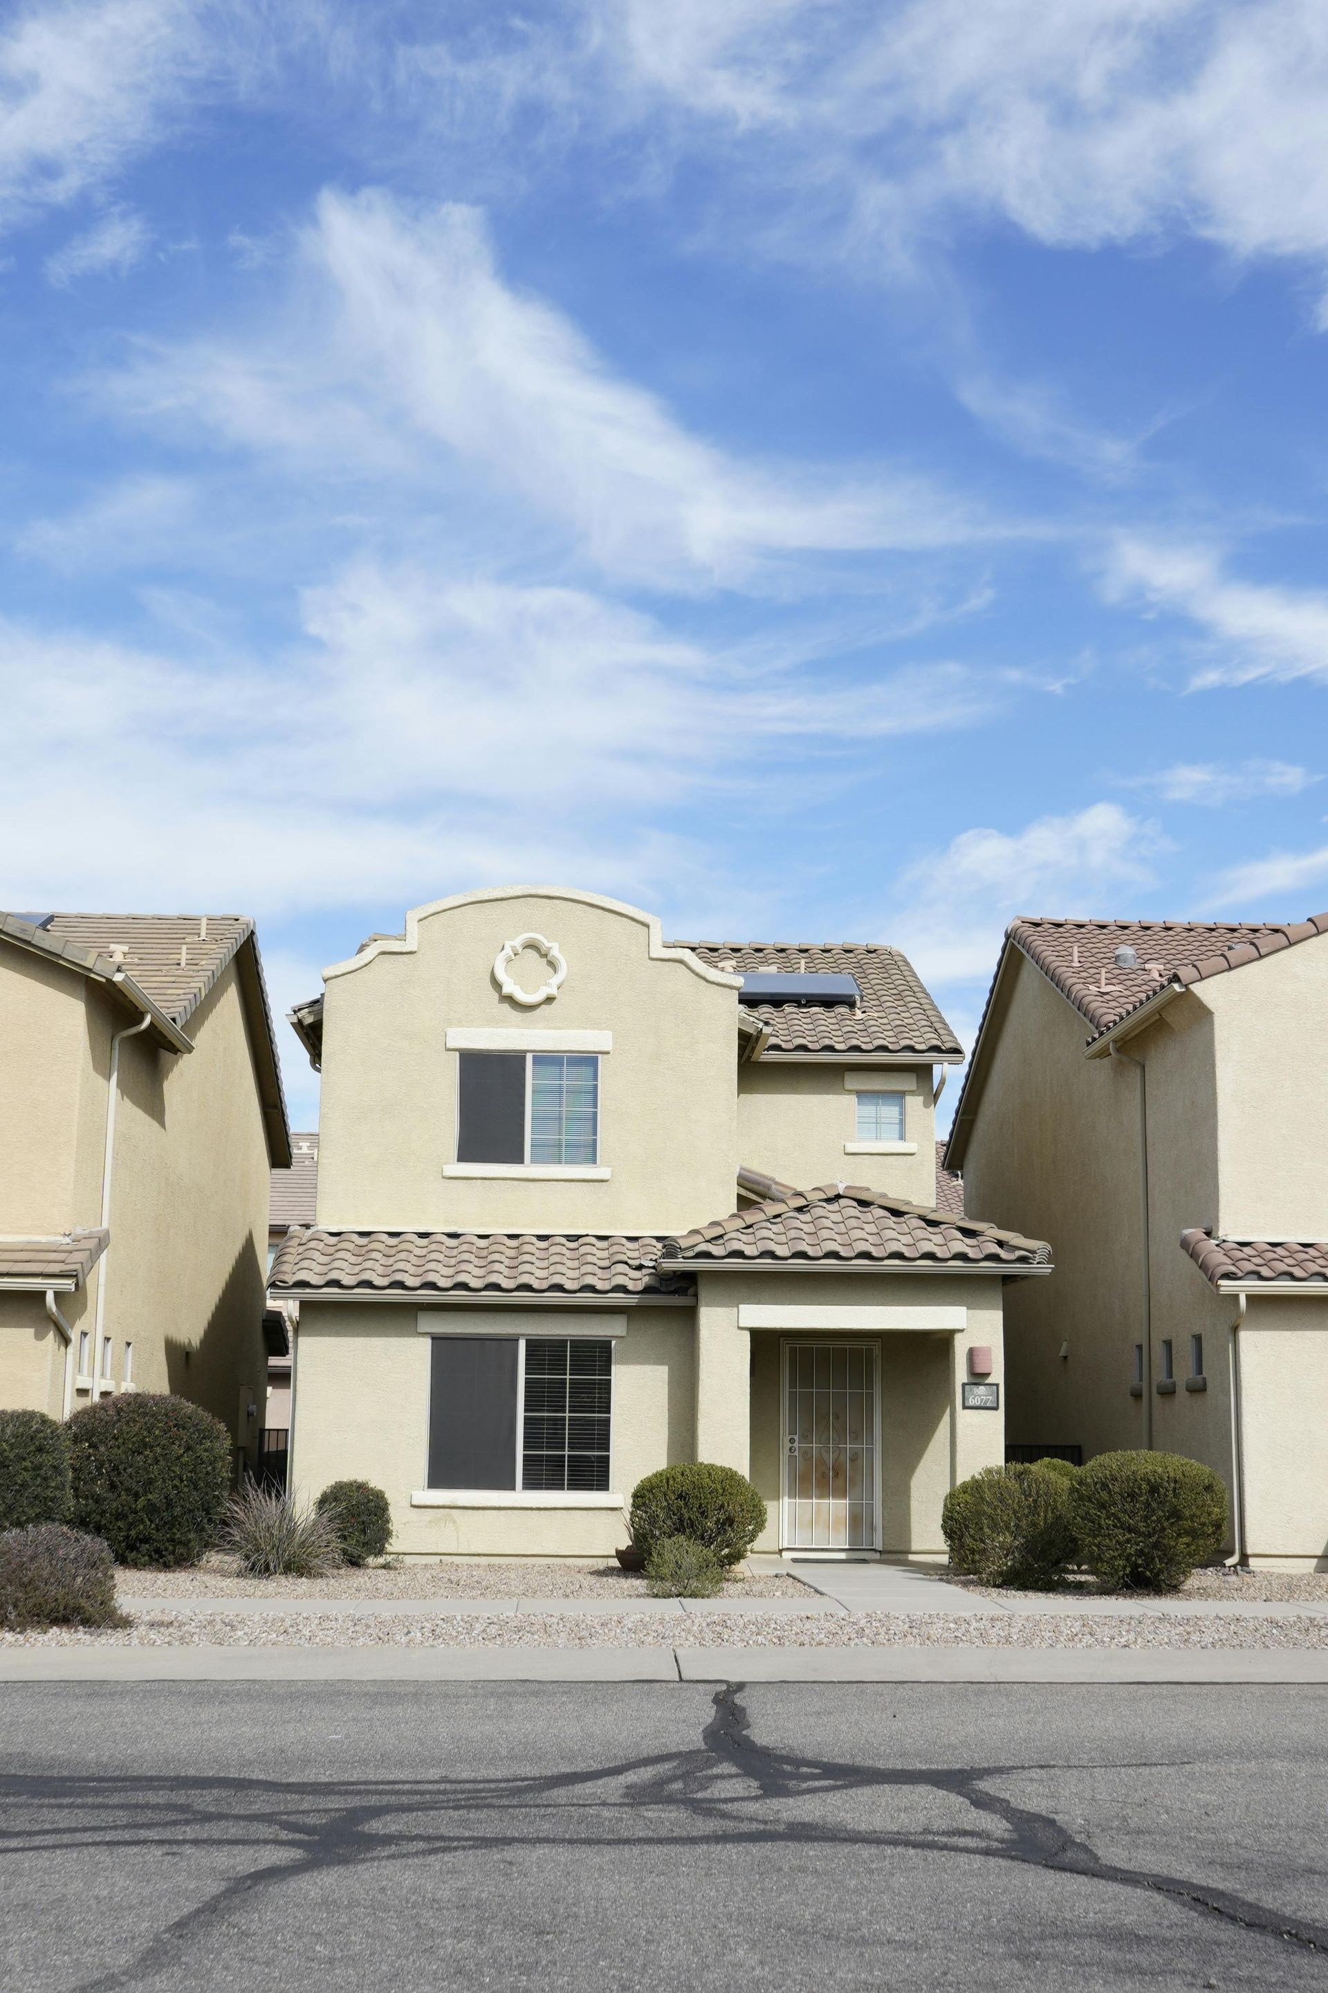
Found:
[[[518,1353],[516,1335],[434,1335],[428,1399],[432,1489],[516,1487]]]

